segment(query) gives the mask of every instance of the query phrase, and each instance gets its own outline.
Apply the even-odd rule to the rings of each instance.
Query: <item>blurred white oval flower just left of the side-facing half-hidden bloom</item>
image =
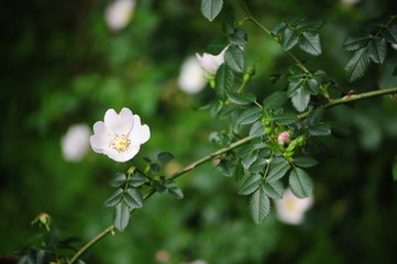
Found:
[[[197,94],[206,87],[205,72],[196,57],[188,57],[180,67],[179,88],[187,94]]]

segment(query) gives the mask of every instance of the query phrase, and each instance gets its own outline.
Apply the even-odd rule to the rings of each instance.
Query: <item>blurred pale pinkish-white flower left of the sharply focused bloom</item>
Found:
[[[88,151],[90,129],[87,124],[74,124],[60,140],[64,158],[70,162],[80,161]]]

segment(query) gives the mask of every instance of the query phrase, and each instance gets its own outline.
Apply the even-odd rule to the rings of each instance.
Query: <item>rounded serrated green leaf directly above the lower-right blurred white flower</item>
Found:
[[[290,172],[289,185],[294,195],[298,198],[308,197],[313,191],[313,183],[310,176],[298,167]]]

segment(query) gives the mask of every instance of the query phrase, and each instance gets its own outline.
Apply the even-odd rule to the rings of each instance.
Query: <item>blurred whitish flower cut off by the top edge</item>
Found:
[[[135,8],[135,0],[114,0],[106,9],[104,18],[108,26],[113,31],[125,28]]]

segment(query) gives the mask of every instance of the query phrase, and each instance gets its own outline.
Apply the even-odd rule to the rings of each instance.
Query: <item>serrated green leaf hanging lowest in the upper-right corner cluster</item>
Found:
[[[346,73],[349,82],[360,79],[364,76],[365,70],[370,64],[368,51],[363,47],[349,58],[344,72]]]

